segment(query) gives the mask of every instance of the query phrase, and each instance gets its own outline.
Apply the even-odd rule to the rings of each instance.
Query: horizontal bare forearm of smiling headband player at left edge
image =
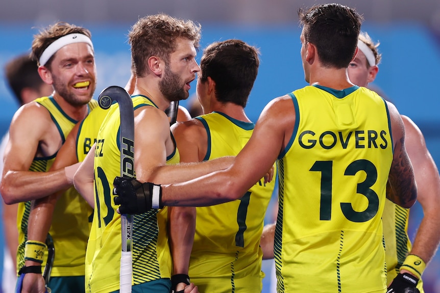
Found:
[[[70,185],[64,169],[53,172],[9,171],[2,180],[1,193],[6,204],[13,204],[43,198]]]

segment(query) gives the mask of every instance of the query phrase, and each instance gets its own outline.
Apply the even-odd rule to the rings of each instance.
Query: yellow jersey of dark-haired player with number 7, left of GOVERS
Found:
[[[208,135],[204,161],[237,155],[254,129],[254,123],[218,112],[197,119]],[[260,237],[274,184],[262,178],[241,199],[197,207],[189,276],[201,292],[261,291]]]

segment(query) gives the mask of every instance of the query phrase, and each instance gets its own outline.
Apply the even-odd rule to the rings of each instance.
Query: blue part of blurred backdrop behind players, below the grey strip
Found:
[[[127,34],[130,24],[84,25],[92,32],[98,71],[95,97],[107,86],[124,87],[130,76],[130,47]],[[31,24],[0,24],[0,67],[12,57],[29,52],[33,34]],[[397,106],[401,114],[409,116],[422,129],[428,149],[437,166],[440,163],[440,110],[439,82],[440,46],[439,39],[419,22],[399,22],[375,25],[366,22],[362,30],[369,32],[373,40],[380,40],[379,50],[382,62],[374,83]],[[247,105],[247,113],[256,121],[265,104],[271,99],[306,85],[300,59],[300,28],[298,23],[282,25],[203,25],[202,46],[213,41],[238,38],[260,49],[260,69],[254,89]],[[198,54],[200,58],[201,52]],[[17,104],[0,72],[0,134],[11,121]],[[191,84],[194,93],[195,82]],[[186,101],[181,102],[186,105]],[[29,125],[32,127],[32,125]],[[275,202],[275,201],[274,201]],[[423,212],[419,204],[411,209],[410,236],[420,223]],[[267,222],[271,220],[268,212]],[[3,227],[0,226],[0,232]],[[440,231],[439,231],[440,232]],[[3,234],[3,233],[1,233]],[[3,255],[0,253],[0,263]],[[440,292],[440,260],[437,255],[424,274],[426,292]],[[270,273],[272,261],[263,262],[263,270]],[[1,270],[1,266],[0,266]],[[268,291],[270,278],[264,279],[264,290]],[[437,286],[437,289],[434,287]]]

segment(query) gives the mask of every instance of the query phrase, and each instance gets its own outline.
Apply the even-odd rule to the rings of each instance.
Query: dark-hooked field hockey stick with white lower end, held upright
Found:
[[[120,176],[134,178],[134,112],[133,102],[127,91],[118,86],[111,86],[104,89],[98,102],[103,109],[110,108],[116,101],[119,104],[120,131],[119,131],[119,151],[120,151]],[[119,292],[131,292],[131,279],[133,274],[133,216],[120,215],[121,226],[121,257],[120,257],[120,276]]]

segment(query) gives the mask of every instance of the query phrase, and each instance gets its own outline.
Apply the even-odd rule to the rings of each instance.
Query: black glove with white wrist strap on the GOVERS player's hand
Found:
[[[162,208],[160,185],[141,183],[133,178],[116,177],[113,181],[114,204],[119,205],[120,214],[138,215],[154,208]],[[153,194],[153,187],[156,194]]]

